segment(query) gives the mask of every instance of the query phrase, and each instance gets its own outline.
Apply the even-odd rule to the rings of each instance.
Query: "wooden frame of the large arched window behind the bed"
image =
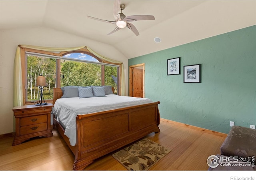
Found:
[[[66,51],[66,52],[60,52],[60,53],[56,53],[56,52],[48,52],[48,51],[43,51],[43,50],[35,50],[35,49],[31,49],[31,48],[20,48],[20,53],[21,53],[21,68],[22,68],[22,96],[23,96],[23,104],[34,104],[34,102],[28,101],[26,98],[26,91],[27,91],[27,62],[26,62],[26,52],[32,52],[32,53],[38,53],[38,54],[46,54],[46,55],[50,55],[50,56],[65,56],[66,54],[72,54],[72,53],[83,53],[83,54],[88,54],[89,56],[94,57],[95,59],[97,59],[99,62],[104,63],[104,60],[102,60],[101,58],[98,58],[97,56],[95,56],[94,54],[92,54],[89,50],[87,50],[86,48],[80,49],[80,50],[74,50],[74,51]],[[75,60],[74,60],[75,61]],[[117,78],[118,78],[118,91],[117,94],[120,94],[121,92],[121,88],[120,88],[120,79],[121,79],[121,71],[120,71],[120,64],[116,64],[116,63],[111,63],[108,62],[106,64],[113,64],[116,66],[119,66],[117,68]],[[105,76],[104,76],[104,64],[101,65],[101,85],[104,86],[105,84]],[[56,57],[56,82],[55,82],[55,87],[56,88],[60,88],[60,58]],[[47,100],[48,103],[52,103],[53,99],[49,99]]]

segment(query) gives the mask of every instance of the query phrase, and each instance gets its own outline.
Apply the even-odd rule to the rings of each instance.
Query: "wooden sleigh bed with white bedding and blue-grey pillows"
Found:
[[[91,88],[92,96],[88,95],[90,90],[85,90]],[[101,89],[100,93],[97,88]],[[88,91],[85,93],[88,97],[82,93],[79,95],[82,90]],[[70,92],[71,97],[66,96]],[[116,97],[124,98],[125,101],[119,104]],[[152,102],[147,98],[138,98],[136,102],[136,98],[135,101],[129,98],[134,99],[113,94],[111,86],[54,88],[53,128],[57,128],[75,156],[73,170],[83,170],[101,156],[152,132],[160,132],[160,102]],[[102,106],[98,107],[96,101]]]

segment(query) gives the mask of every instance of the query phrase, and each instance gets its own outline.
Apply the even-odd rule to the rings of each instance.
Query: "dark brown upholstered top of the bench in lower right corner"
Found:
[[[256,156],[256,130],[232,126],[220,147],[220,152],[225,156]]]

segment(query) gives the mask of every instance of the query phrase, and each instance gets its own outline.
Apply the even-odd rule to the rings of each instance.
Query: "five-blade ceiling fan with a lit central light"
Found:
[[[94,18],[91,16],[87,16],[88,18],[94,19],[94,20],[99,20],[102,22],[108,22],[111,24],[116,24],[116,28],[111,31],[110,33],[108,33],[107,35],[113,34],[114,32],[122,29],[122,28],[129,28],[130,30],[132,30],[132,32],[134,32],[134,34],[136,36],[138,36],[140,33],[138,32],[138,30],[135,28],[135,26],[133,24],[131,24],[130,22],[132,21],[138,21],[138,20],[155,20],[155,17],[152,15],[133,15],[133,16],[125,16],[122,11],[124,10],[125,5],[120,3],[120,0],[116,0],[114,3],[114,18],[116,20],[114,21],[109,21],[109,20],[102,20],[102,19],[98,19],[98,18]]]

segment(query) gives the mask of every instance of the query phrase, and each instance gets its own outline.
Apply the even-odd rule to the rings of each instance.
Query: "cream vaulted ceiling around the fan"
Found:
[[[179,46],[256,24],[256,0],[121,0],[130,15],[153,15],[155,20],[132,22],[106,35],[115,20],[114,0],[0,0],[0,30],[46,27],[110,44],[127,58]],[[154,38],[161,38],[160,43]]]

